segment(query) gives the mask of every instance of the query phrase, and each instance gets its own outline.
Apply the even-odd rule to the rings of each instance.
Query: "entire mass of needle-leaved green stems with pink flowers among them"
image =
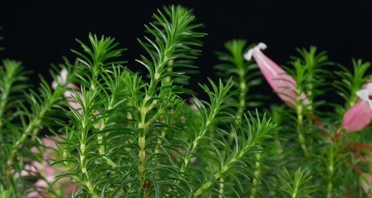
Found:
[[[265,44],[232,40],[216,52],[220,79],[196,96],[188,78],[206,34],[191,11],[164,6],[145,25],[145,54],[130,64],[146,72],[91,33],[36,90],[21,62],[4,59],[0,198],[369,196],[370,63],[353,59],[334,77],[326,52],[310,47],[283,69]],[[255,94],[261,75],[283,104]],[[324,101],[333,90],[345,104]]]

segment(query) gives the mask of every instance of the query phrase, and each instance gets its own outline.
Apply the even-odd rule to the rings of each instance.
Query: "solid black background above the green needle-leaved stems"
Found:
[[[115,37],[120,47],[128,48],[123,58],[136,71],[142,66],[135,62],[144,49],[141,38],[143,24],[162,5],[182,4],[194,8],[197,21],[205,24],[203,54],[196,60],[201,75],[192,76],[190,88],[206,77],[217,79],[212,66],[219,61],[214,54],[224,50],[223,43],[234,38],[248,43],[264,42],[264,51],[278,64],[285,64],[296,47],[315,45],[327,50],[331,61],[351,67],[351,58],[372,60],[371,1],[13,1],[0,2],[0,58],[22,60],[27,69],[49,77],[50,63],[70,60],[75,55],[69,49],[82,50],[75,38],[88,42],[88,33]],[[267,83],[260,91],[271,92]],[[269,94],[269,93],[267,93]],[[272,94],[274,96],[274,94]],[[334,97],[335,95],[332,95]],[[277,97],[273,97],[277,99]],[[337,100],[337,99],[336,99]]]

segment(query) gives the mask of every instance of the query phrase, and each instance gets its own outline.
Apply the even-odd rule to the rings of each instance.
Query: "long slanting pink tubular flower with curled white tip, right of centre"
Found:
[[[267,46],[264,43],[259,43],[254,48],[249,49],[244,57],[247,60],[254,58],[263,77],[265,77],[271,88],[278,93],[280,99],[291,105],[296,105],[297,95],[294,92],[296,90],[296,81],[278,64],[262,53],[261,49],[266,48]],[[304,104],[309,103],[304,93],[301,94],[301,99],[303,99]]]

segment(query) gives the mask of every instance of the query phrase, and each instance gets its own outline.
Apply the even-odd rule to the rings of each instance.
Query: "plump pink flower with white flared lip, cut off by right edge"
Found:
[[[371,123],[372,118],[372,83],[367,84],[366,89],[356,93],[361,98],[350,107],[344,114],[342,126],[347,132],[355,132],[363,129]]]

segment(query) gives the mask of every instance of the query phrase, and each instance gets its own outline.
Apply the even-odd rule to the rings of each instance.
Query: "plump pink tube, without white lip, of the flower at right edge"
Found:
[[[372,110],[365,100],[359,100],[344,114],[342,126],[347,132],[355,132],[363,129],[371,122]]]

